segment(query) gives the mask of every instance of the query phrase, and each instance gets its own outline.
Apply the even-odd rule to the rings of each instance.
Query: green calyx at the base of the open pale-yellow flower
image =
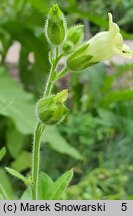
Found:
[[[71,71],[81,71],[91,65],[92,56],[86,53],[89,47],[88,43],[81,45],[75,52],[70,54],[66,61],[66,66]]]

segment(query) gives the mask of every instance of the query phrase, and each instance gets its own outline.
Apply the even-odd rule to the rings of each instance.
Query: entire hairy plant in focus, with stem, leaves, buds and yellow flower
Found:
[[[44,32],[50,44],[51,68],[44,93],[36,103],[38,121],[34,130],[32,173],[31,176],[25,177],[16,170],[6,167],[7,172],[23,181],[27,186],[21,199],[62,199],[73,176],[71,169],[53,182],[46,173],[39,171],[40,145],[45,128],[60,124],[69,113],[69,109],[65,105],[68,89],[53,94],[52,88],[55,82],[68,72],[77,73],[116,54],[127,58],[132,56],[130,48],[123,44],[122,35],[118,25],[112,20],[112,14],[109,13],[108,16],[108,31],[97,33],[89,41],[84,41],[83,25],[68,28],[64,15],[57,4],[54,4],[49,11]],[[59,70],[58,66],[62,58],[64,68]],[[0,158],[4,154],[5,149],[2,149]],[[8,199],[6,191],[1,186],[0,191],[4,198]]]

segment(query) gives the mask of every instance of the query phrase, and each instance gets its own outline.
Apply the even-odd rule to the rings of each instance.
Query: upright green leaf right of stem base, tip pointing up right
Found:
[[[70,183],[73,177],[73,170],[69,170],[65,172],[62,176],[60,176],[54,184],[49,188],[47,193],[48,200],[58,200],[61,199],[61,196],[65,192],[68,184]]]

